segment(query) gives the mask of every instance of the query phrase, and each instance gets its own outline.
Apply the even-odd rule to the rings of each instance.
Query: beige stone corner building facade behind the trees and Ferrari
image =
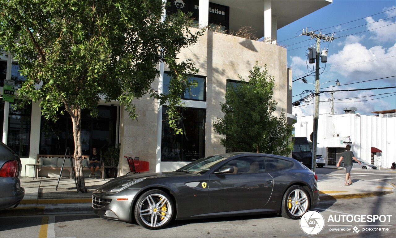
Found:
[[[330,3],[331,0],[172,1],[169,13],[176,9],[187,11],[183,9],[185,7],[193,9],[199,27],[209,26],[210,29],[214,24],[223,30],[236,31],[251,26],[257,30],[257,38],[265,36],[272,44],[206,31],[197,44],[184,49],[179,55],[181,60],[191,59],[199,68],[194,77],[198,86],[182,98],[185,108],[180,109],[182,117],[178,120],[183,129],[182,135],[176,135],[169,128],[164,114],[166,105],[160,107],[157,101],[148,97],[133,102],[137,106],[138,121],[129,119],[128,113],[118,102],[103,101],[100,103],[99,118],[90,118],[88,112],[83,118],[83,153],[89,154],[92,147],[105,150],[120,143],[118,172],[124,175],[129,172],[129,167],[123,156],[137,156],[149,162],[150,172],[160,172],[177,169],[204,156],[225,152],[220,144],[220,135],[213,130],[213,120],[223,116],[220,102],[224,100],[227,82],[239,80],[238,75],[247,79],[249,70],[256,62],[259,66],[266,64],[268,73],[275,77],[273,99],[278,102],[276,114],[279,115],[283,109],[287,112],[287,120],[291,122],[295,119],[291,115],[291,70],[287,69],[286,49],[276,45],[276,30]],[[7,55],[2,56],[2,72],[11,72],[11,61]],[[14,65],[17,67],[17,62]],[[169,80],[167,68],[166,65],[158,67],[161,75],[154,82],[154,88],[166,92]],[[18,77],[17,70],[14,71]],[[1,81],[10,78],[5,74]],[[2,113],[3,119],[8,120],[3,120],[3,141],[20,154],[22,174],[25,173],[24,165],[34,163],[37,154],[64,154],[67,147],[74,150],[71,122],[67,115],[51,124],[40,116],[38,103],[33,102],[29,110],[21,112],[7,112],[7,104],[2,104],[3,109],[6,109]],[[11,134],[12,131],[15,133]],[[32,176],[33,168],[27,169],[26,174]]]

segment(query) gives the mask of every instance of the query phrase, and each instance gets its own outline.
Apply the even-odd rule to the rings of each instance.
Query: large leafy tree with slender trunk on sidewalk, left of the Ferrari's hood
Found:
[[[19,106],[40,101],[48,120],[63,107],[71,116],[77,191],[86,192],[82,109],[96,116],[103,97],[120,101],[135,119],[132,100],[149,95],[169,103],[175,125],[181,95],[193,85],[189,74],[198,72],[177,55],[202,31],[190,32],[181,12],[163,20],[165,7],[159,0],[0,0],[0,51],[18,60],[26,78]],[[172,76],[167,95],[152,86],[160,61]]]

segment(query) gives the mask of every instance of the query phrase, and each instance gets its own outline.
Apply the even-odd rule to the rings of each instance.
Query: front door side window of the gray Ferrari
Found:
[[[224,166],[233,166],[234,173],[265,173],[264,157],[245,156],[227,162]],[[221,167],[223,168],[223,166]]]

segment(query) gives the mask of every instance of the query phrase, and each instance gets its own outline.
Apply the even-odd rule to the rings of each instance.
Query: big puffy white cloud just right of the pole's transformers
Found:
[[[328,63],[333,66],[331,71],[346,76],[347,81],[375,79],[396,75],[395,55],[396,44],[388,49],[382,46],[367,49],[360,43],[348,42],[341,51],[329,56]],[[394,78],[390,80],[394,82]]]

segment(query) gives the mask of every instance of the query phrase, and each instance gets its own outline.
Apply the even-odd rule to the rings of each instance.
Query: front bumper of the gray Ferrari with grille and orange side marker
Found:
[[[101,218],[130,223],[133,215],[132,204],[139,190],[127,188],[115,194],[93,192],[93,212]]]

